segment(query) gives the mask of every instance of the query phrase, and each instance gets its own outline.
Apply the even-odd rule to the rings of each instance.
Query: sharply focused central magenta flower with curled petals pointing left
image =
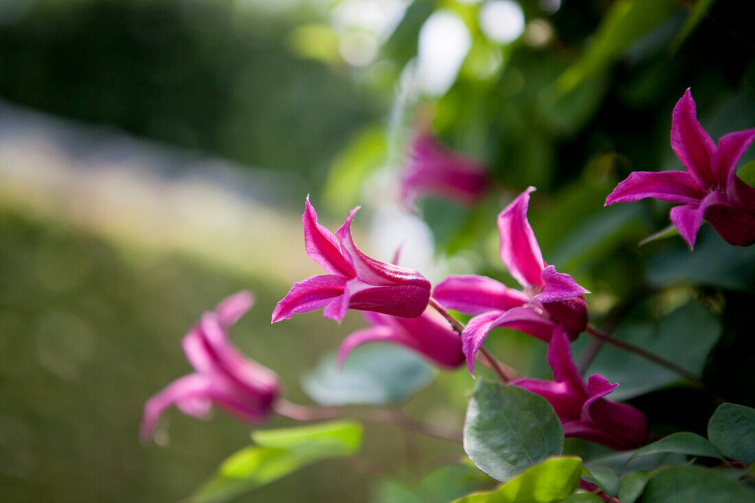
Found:
[[[325,307],[326,318],[341,322],[349,309],[415,318],[430,301],[430,282],[415,270],[369,258],[356,248],[350,211],[336,236],[317,223],[315,208],[307,197],[302,222],[307,255],[328,273],[294,283],[273,310],[273,323],[294,313]],[[337,240],[336,240],[337,237]]]

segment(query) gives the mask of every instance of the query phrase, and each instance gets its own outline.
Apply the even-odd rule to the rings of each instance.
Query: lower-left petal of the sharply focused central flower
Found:
[[[347,279],[334,274],[312,276],[294,283],[291,291],[279,301],[273,310],[272,322],[289,319],[294,313],[309,313],[325,307],[332,299],[344,294]]]

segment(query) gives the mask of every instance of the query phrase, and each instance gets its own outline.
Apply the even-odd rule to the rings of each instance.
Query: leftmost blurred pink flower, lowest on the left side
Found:
[[[140,428],[149,440],[157,421],[171,405],[196,418],[206,418],[212,406],[240,421],[267,419],[281,387],[275,372],[248,360],[228,340],[228,328],[254,304],[251,292],[239,292],[204,313],[183,338],[183,352],[196,372],[184,375],[147,400]]]

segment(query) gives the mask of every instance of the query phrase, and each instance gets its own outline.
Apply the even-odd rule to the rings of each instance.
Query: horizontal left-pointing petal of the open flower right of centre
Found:
[[[524,292],[510,289],[487,276],[448,276],[433,289],[433,297],[446,309],[466,314],[505,311],[529,303]]]

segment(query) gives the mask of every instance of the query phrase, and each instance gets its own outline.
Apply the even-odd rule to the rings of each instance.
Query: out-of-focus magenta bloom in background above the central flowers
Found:
[[[427,132],[416,134],[410,156],[401,177],[401,199],[405,205],[411,206],[415,199],[424,196],[473,205],[490,183],[485,165],[448,150]]]

